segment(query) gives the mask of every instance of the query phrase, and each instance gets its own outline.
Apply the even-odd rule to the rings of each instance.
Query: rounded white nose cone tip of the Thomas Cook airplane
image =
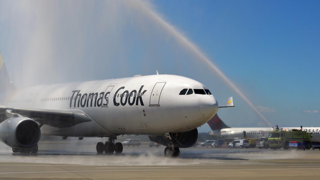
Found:
[[[214,97],[202,97],[199,103],[199,110],[204,117],[212,118],[218,111],[218,102]]]

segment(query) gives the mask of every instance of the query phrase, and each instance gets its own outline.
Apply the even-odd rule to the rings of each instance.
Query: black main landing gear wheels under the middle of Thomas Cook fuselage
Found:
[[[115,140],[116,136],[109,137],[109,140],[106,143],[97,143],[97,153],[102,154],[105,152],[105,154],[113,154],[113,152],[116,152],[116,154],[121,154],[123,150],[122,143],[115,143]]]

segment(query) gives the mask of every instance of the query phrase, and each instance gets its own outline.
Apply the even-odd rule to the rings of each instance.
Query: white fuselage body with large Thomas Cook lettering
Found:
[[[183,89],[192,94],[179,95]],[[32,109],[77,110],[91,122],[71,127],[41,127],[42,134],[109,137],[122,134],[164,135],[185,132],[210,120],[218,110],[207,89],[181,76],[151,75],[99,81],[34,86],[16,91],[6,106]]]

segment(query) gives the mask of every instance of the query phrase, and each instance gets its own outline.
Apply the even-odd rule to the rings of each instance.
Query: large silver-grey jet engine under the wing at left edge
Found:
[[[0,123],[0,141],[10,147],[32,147],[40,140],[41,131],[36,121],[15,117]]]

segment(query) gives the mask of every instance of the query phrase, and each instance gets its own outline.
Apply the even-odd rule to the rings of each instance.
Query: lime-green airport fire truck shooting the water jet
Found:
[[[311,139],[312,136],[306,131],[299,131],[298,129],[292,129],[290,131],[270,131],[266,147],[270,149],[280,149],[284,148],[285,150],[289,149],[290,142],[296,142],[304,144],[306,149],[311,148]]]

